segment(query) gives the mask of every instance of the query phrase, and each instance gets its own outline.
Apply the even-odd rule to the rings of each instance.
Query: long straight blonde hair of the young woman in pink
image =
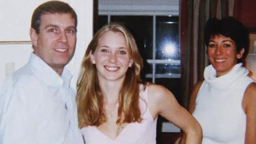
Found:
[[[99,85],[96,66],[91,63],[90,52],[94,54],[98,40],[106,31],[121,32],[125,39],[133,65],[128,68],[119,92],[117,124],[141,122],[139,109],[140,71],[143,60],[132,34],[121,24],[111,23],[102,27],[90,42],[83,57],[82,71],[77,84],[77,104],[79,127],[100,126],[107,121],[104,97]]]

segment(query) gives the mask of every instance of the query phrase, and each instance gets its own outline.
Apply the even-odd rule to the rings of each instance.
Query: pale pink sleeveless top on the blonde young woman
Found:
[[[152,117],[148,106],[148,90],[147,87],[143,91],[140,87],[139,106],[141,110],[141,123],[133,122],[128,124],[119,133],[115,140],[107,137],[99,131],[95,126],[87,126],[81,129],[85,144],[156,144],[156,122]]]

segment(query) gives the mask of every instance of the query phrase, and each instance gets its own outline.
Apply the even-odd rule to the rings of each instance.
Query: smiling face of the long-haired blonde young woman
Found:
[[[107,31],[100,37],[91,61],[96,65],[99,80],[109,81],[123,81],[133,63],[124,35],[113,31]]]

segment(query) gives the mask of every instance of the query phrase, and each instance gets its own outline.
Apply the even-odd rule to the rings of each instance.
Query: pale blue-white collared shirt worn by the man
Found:
[[[0,89],[0,144],[83,144],[71,78],[32,53]]]

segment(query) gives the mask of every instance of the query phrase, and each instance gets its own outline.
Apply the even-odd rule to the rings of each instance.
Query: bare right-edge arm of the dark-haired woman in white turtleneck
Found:
[[[256,83],[245,90],[243,109],[246,113],[245,144],[256,144]]]

